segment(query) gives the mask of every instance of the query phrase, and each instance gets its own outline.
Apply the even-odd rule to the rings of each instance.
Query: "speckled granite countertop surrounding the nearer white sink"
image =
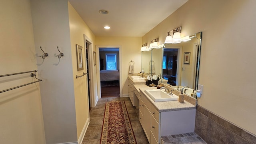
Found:
[[[154,107],[158,110],[158,112],[169,112],[169,111],[177,111],[177,110],[191,110],[196,109],[196,106],[187,102],[184,103],[178,102],[178,100],[174,101],[166,101],[166,102],[154,102],[148,94],[144,92],[144,90],[148,89],[156,89],[156,87],[148,87],[147,85],[134,85],[136,90],[141,90],[143,94],[145,94],[146,98],[154,105]]]

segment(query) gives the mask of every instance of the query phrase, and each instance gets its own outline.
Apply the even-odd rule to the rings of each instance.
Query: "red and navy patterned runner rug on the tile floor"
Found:
[[[100,144],[136,144],[124,101],[106,102]]]

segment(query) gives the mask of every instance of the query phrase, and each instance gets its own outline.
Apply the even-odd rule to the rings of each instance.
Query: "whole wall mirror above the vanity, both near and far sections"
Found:
[[[189,41],[164,44],[163,48],[142,52],[142,70],[146,74],[151,74],[152,70],[153,75],[162,77],[159,82],[169,84],[176,90],[189,86],[185,94],[192,96],[198,86],[201,36],[202,32],[198,32],[191,34]]]

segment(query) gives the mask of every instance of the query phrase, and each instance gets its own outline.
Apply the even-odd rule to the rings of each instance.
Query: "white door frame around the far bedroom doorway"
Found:
[[[100,48],[119,48],[119,92],[120,97],[123,97],[123,87],[122,87],[122,46],[121,45],[96,45],[96,69],[97,69],[97,89],[98,89],[98,98],[101,98],[100,90]]]

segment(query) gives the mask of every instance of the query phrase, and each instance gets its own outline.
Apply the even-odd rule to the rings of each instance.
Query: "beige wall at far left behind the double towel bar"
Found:
[[[0,75],[37,70],[30,1],[2,0],[0,19]],[[30,73],[1,77],[0,91],[33,81]],[[0,93],[1,144],[46,143],[40,83]]]

